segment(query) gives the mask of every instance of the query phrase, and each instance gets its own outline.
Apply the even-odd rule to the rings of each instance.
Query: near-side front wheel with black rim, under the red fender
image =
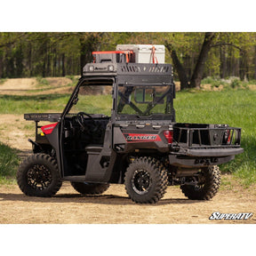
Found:
[[[17,182],[27,196],[49,197],[60,187],[60,173],[56,160],[46,154],[28,156],[19,167]]]

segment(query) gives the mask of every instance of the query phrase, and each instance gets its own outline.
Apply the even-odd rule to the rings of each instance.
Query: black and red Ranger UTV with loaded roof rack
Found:
[[[79,193],[96,195],[124,183],[132,201],[153,204],[168,185],[179,185],[189,199],[211,199],[220,186],[218,165],[244,151],[241,129],[176,123],[172,66],[163,63],[163,47],[117,46],[92,52],[61,114],[24,115],[36,122],[36,140],[29,139],[34,154],[17,173],[20,189],[53,196],[68,180]],[[112,94],[111,116],[86,112],[88,88]]]

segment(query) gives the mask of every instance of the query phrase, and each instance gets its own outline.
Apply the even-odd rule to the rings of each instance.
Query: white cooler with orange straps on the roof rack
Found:
[[[117,44],[116,51],[132,51],[130,62],[164,63],[164,45],[161,44]]]

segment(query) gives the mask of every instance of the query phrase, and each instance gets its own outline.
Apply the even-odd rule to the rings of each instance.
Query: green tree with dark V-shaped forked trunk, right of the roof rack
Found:
[[[171,33],[165,36],[164,40],[165,46],[172,57],[173,66],[178,73],[181,89],[200,88],[201,80],[205,74],[205,65],[209,61],[209,55],[211,57],[209,53],[216,47],[220,49],[218,58],[222,77],[226,74],[230,76],[232,69],[237,65],[241,79],[249,79],[252,73],[250,71],[252,64],[249,64],[249,62],[252,63],[250,56],[255,51],[255,33]],[[199,48],[198,45],[200,45]],[[191,55],[191,51],[196,54],[193,57],[195,64],[191,66],[193,69],[192,76],[189,77],[188,70],[184,67],[184,61],[180,59],[184,54]],[[212,56],[216,63],[217,54]],[[233,67],[231,67],[231,60],[233,61]],[[238,64],[235,65],[234,63]],[[255,73],[256,68],[253,69],[253,74]]]

